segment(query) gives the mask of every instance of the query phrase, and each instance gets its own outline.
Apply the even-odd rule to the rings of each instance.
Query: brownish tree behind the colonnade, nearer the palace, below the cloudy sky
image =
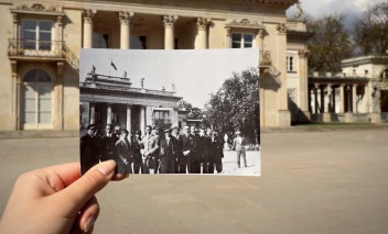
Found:
[[[308,41],[310,69],[340,71],[341,60],[349,57],[353,52],[349,33],[344,27],[344,16],[332,14],[305,20],[308,31],[314,33]]]

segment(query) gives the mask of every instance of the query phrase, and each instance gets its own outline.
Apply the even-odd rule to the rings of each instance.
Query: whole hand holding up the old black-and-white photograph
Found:
[[[79,164],[65,164],[21,175],[0,233],[91,233],[99,213],[95,194],[114,178],[115,167],[114,160],[104,161],[80,177]]]

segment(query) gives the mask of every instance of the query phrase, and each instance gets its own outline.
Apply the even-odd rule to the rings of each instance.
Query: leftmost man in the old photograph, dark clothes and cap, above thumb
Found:
[[[98,164],[100,158],[100,147],[97,137],[98,127],[96,124],[89,124],[86,129],[87,134],[79,138],[82,175]]]

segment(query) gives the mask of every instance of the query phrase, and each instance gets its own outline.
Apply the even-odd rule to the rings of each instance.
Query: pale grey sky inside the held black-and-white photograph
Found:
[[[172,91],[176,96],[204,108],[211,93],[216,93],[234,71],[257,67],[257,48],[247,49],[82,49],[79,80],[84,81],[93,65],[96,74],[131,79],[132,87]],[[115,64],[117,70],[110,65]]]

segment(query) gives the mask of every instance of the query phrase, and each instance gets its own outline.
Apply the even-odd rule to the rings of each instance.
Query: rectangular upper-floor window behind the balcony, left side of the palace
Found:
[[[51,51],[52,21],[23,20],[22,47],[24,49]]]

